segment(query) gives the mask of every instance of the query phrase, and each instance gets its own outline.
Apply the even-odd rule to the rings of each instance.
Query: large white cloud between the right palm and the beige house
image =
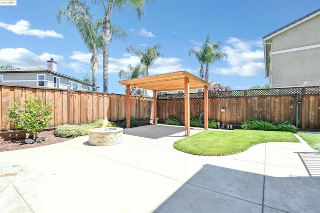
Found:
[[[222,51],[227,53],[228,68],[213,68],[213,73],[223,75],[254,76],[264,71],[263,44],[261,40],[244,41],[230,37]]]

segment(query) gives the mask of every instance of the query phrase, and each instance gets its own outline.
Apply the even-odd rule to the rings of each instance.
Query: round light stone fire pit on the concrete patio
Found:
[[[119,127],[95,128],[89,130],[89,144],[109,146],[122,142],[123,129]]]

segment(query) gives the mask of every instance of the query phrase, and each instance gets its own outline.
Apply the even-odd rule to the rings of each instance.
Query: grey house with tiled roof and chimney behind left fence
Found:
[[[92,84],[58,73],[53,58],[47,61],[47,69],[42,67],[0,69],[0,83],[30,87],[92,90]]]

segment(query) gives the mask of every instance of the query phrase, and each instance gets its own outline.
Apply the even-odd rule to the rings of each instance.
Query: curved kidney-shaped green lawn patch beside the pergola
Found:
[[[176,141],[173,147],[193,155],[221,156],[243,152],[255,144],[266,142],[298,142],[290,132],[206,130]]]

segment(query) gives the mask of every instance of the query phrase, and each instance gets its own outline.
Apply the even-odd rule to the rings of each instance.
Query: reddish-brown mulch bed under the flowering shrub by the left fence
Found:
[[[70,140],[70,138],[59,138],[54,135],[44,136],[42,137],[41,142],[34,142],[32,144],[24,143],[24,139],[17,139],[11,141],[0,141],[0,152],[11,151],[11,150],[19,150],[19,149],[28,149],[33,147],[41,147],[50,144],[56,144],[63,141]]]

